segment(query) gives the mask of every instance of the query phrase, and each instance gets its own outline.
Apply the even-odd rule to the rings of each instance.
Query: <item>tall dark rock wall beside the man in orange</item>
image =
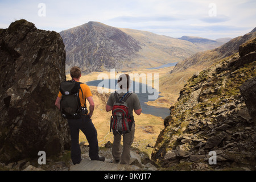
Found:
[[[54,103],[65,80],[65,47],[54,31],[17,20],[0,31],[0,161],[57,154],[69,147]]]

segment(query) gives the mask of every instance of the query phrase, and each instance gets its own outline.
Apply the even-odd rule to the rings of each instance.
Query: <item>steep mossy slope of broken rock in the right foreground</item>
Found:
[[[152,159],[171,169],[255,170],[255,41],[188,80],[164,120]],[[208,163],[210,151],[217,165]]]

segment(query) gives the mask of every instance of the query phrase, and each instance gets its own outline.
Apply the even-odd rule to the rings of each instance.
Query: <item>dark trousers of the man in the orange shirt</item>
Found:
[[[81,149],[79,146],[79,131],[84,133],[89,143],[89,157],[91,160],[98,160],[98,139],[92,119],[83,115],[81,119],[68,119],[68,125],[71,133],[71,159],[73,164],[80,163]]]

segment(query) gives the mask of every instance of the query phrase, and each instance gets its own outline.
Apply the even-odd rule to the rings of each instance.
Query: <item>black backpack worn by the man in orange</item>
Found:
[[[81,82],[76,82],[74,80],[63,81],[60,84],[60,92],[62,98],[60,100],[60,111],[61,115],[66,119],[80,119],[82,114],[87,114],[86,101],[84,106],[81,106],[79,98],[79,90],[81,90]],[[82,98],[84,94],[82,93]]]

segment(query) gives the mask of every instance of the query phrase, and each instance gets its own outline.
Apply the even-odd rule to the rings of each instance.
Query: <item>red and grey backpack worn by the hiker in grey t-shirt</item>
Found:
[[[131,93],[126,93],[121,100],[118,100],[117,92],[114,93],[115,102],[112,109],[112,117],[110,118],[110,132],[113,130],[114,135],[125,135],[131,131],[131,126],[134,122],[134,117],[129,113],[127,106],[127,98]]]

